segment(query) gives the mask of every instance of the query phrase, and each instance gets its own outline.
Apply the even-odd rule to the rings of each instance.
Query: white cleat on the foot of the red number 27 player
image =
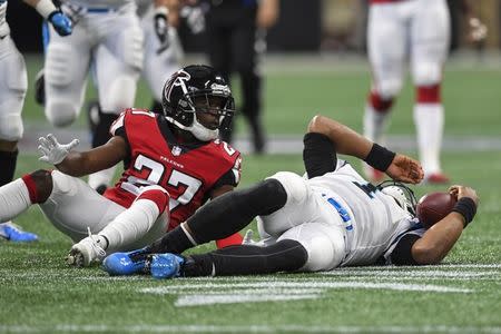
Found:
[[[100,262],[105,256],[106,252],[100,246],[98,237],[91,235],[89,229],[89,236],[71,247],[66,262],[70,266],[88,267],[95,262]]]

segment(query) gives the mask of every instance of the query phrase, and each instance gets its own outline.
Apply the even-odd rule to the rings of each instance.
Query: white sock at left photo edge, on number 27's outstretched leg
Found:
[[[30,193],[21,178],[0,187],[0,222],[13,219],[31,204]]]

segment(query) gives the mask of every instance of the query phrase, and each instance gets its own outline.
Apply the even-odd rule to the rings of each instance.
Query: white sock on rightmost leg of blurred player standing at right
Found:
[[[441,104],[418,104],[414,106],[414,124],[418,147],[424,174],[441,171],[440,149],[442,147],[444,111]]]

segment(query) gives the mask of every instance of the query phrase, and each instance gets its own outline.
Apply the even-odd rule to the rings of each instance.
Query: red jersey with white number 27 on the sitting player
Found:
[[[140,188],[159,185],[170,195],[169,229],[176,227],[208,198],[213,189],[236,186],[240,154],[218,139],[198,145],[178,143],[165,117],[141,110],[124,111],[110,128],[128,144],[124,173],[105,196],[129,207]]]

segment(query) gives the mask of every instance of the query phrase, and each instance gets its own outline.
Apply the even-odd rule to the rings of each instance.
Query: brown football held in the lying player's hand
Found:
[[[456,199],[449,193],[430,193],[421,197],[416,206],[416,215],[424,228],[432,227],[449,215]]]

